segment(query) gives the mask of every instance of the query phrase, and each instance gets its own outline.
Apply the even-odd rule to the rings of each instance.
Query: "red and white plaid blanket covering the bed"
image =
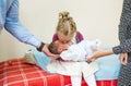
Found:
[[[69,76],[48,74],[36,65],[25,64],[23,58],[10,61],[0,62],[0,86],[71,86]],[[82,86],[87,86],[84,81]],[[97,81],[97,86],[117,86],[117,79]]]

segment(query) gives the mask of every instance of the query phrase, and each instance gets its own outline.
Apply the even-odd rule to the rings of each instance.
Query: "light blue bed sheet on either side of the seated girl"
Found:
[[[104,47],[103,49],[107,50],[111,47]],[[36,60],[36,64],[41,67],[43,70],[46,70],[46,66],[50,62],[50,58],[48,58],[43,52],[39,52],[37,50],[28,50],[29,53],[32,53]],[[95,60],[96,63],[98,63],[98,71],[95,73],[96,79],[98,81],[108,81],[108,79],[117,79],[120,71],[120,60],[119,54],[110,54],[103,58],[99,58]]]

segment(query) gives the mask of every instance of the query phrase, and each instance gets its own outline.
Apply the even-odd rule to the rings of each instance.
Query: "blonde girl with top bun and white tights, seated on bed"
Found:
[[[61,44],[78,44],[83,40],[83,36],[76,30],[76,25],[69,12],[59,13],[59,22],[52,41],[59,40]],[[96,66],[96,67],[92,67]],[[56,69],[57,67],[57,69]],[[61,59],[51,60],[47,65],[50,73],[59,73],[71,76],[72,86],[81,86],[82,76],[88,86],[96,86],[94,73],[98,70],[96,63],[67,62]]]

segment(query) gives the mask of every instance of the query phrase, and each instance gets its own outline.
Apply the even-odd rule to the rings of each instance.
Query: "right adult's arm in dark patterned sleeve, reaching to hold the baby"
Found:
[[[93,49],[95,51],[95,53],[90,57],[90,61],[93,61],[97,58],[102,58],[105,56],[109,56],[109,54],[119,54],[119,53],[126,53],[126,52],[131,52],[131,39],[126,40],[126,42],[114,47],[112,49],[109,50],[103,50],[103,49],[98,49],[95,48]]]

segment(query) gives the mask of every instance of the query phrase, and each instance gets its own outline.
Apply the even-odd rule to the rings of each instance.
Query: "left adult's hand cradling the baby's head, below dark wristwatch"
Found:
[[[51,59],[58,59],[59,54],[53,54],[48,50],[48,44],[45,44],[44,48],[41,49],[41,52],[46,53]]]

